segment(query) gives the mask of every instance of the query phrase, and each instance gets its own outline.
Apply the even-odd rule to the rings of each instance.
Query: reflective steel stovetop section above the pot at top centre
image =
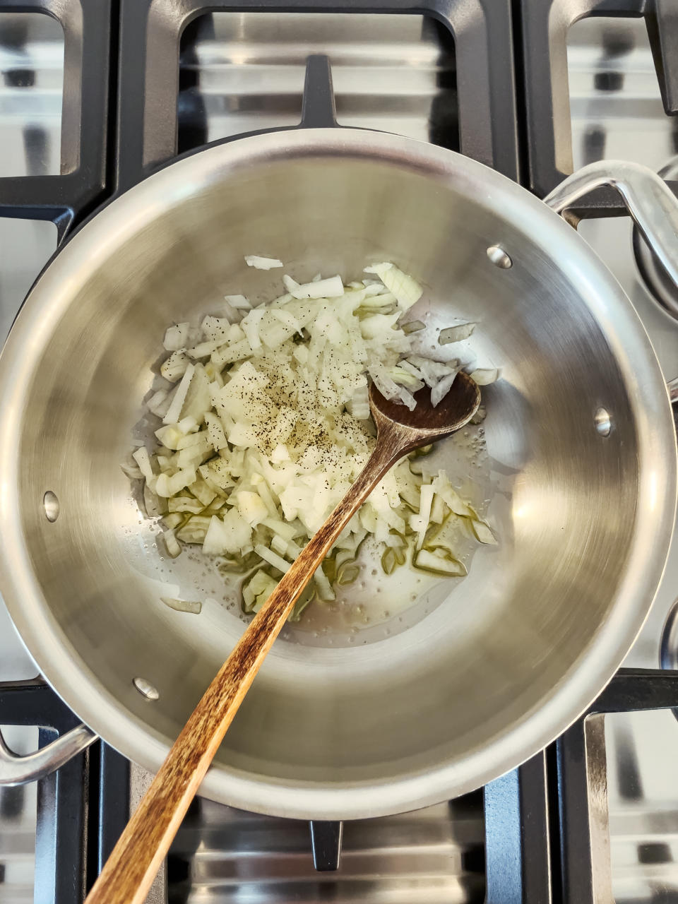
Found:
[[[182,39],[179,149],[301,119],[306,59],[332,63],[337,118],[458,150],[454,42],[428,16],[213,13]]]

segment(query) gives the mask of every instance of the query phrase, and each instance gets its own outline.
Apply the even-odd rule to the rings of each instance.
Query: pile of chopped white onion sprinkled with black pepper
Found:
[[[261,261],[248,259],[253,267]],[[263,261],[265,268],[282,266]],[[161,518],[168,555],[178,555],[181,543],[201,543],[223,557],[221,569],[250,572],[245,611],[265,604],[369,457],[369,379],[410,410],[424,383],[438,404],[455,379],[458,362],[414,353],[409,336],[425,329],[423,321],[400,325],[421,287],[390,263],[366,272],[379,278],[345,288],[338,276],[317,274],[299,285],[285,275],[287,292],[273,301],[252,307],[244,296],[225,296],[200,327],[186,322],[165,333],[169,355],[161,372],[176,385],[146,403],[162,418],[155,428],[160,445],[153,454],[137,448],[135,465],[124,470],[145,481],[146,512]],[[441,333],[443,341],[448,335]],[[479,372],[479,380],[486,376]],[[315,590],[300,598],[294,619],[311,599],[333,600],[358,577],[368,535],[380,546],[384,571],[400,568],[411,553],[415,568],[438,577],[466,573],[447,523],[464,519],[469,537],[495,542],[445,472],[422,476],[425,451],[381,479],[315,572]],[[174,603],[184,605],[174,598],[168,605]]]

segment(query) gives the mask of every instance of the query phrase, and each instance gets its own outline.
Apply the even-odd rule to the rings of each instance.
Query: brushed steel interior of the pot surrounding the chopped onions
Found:
[[[244,777],[268,789],[257,808],[294,812],[277,788],[383,786],[452,767],[446,786],[432,779],[427,792],[442,799],[468,785],[469,758],[500,745],[578,669],[619,602],[645,506],[637,403],[624,352],[601,326],[620,293],[610,297],[605,280],[598,287],[591,274],[604,271],[574,234],[546,247],[546,232],[567,231],[550,212],[529,198],[512,209],[519,190],[502,198],[493,176],[483,191],[481,168],[468,176],[451,155],[427,171],[397,154],[229,165],[221,151],[219,165],[201,169],[194,157],[155,176],[153,192],[149,184],[114,202],[57,259],[60,311],[22,402],[16,479],[57,643],[95,694],[80,715],[143,759],[125,726],[170,744],[243,628],[233,579],[199,551],[163,558],[120,469],[144,430],[141,400],[166,326],[209,312],[225,294],[275,297],[282,272],[348,280],[388,259],[425,287],[413,318],[430,312],[432,328],[476,321],[478,364],[501,367],[483,390],[485,422],[435,453],[499,544],[475,551],[466,579],[417,583],[400,570],[373,581],[367,570],[351,591],[367,622],[344,623],[315,604],[269,654],[217,756],[224,780],[209,793],[246,805],[228,782]],[[511,268],[488,258],[495,245]],[[248,268],[243,256],[254,253],[287,266]],[[44,291],[39,283],[33,297]],[[35,306],[30,299],[22,323]],[[600,408],[613,420],[607,436]],[[60,504],[54,523],[42,506],[48,490]],[[202,614],[174,612],[161,596],[202,599]],[[139,677],[156,701],[137,691]],[[122,727],[96,724],[96,695],[114,702]],[[534,750],[551,728],[535,726]],[[372,799],[346,815],[389,806]]]

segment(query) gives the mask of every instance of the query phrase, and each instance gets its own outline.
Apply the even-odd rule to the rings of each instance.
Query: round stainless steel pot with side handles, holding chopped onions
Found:
[[[678,278],[675,203],[649,171],[594,167],[551,206],[601,183]],[[472,437],[436,455],[489,500],[500,544],[415,602],[399,577],[381,604],[399,615],[353,642],[290,630],[202,792],[324,819],[459,795],[554,739],[615,672],[661,577],[676,494],[670,402],[633,307],[576,231],[472,160],[367,131],[261,135],[168,166],[90,221],[0,357],[0,589],[61,697],[155,770],[242,622],[201,562],[160,560],[119,463],[165,326],[274,290],[249,253],[307,278],[394,259],[424,283],[434,323],[478,321],[479,355],[502,367],[484,391],[486,456],[469,465]],[[202,614],[164,607],[160,581],[207,597]]]

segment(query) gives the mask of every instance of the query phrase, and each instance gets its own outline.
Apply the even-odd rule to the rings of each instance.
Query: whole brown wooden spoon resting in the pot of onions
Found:
[[[233,716],[315,569],[389,468],[412,449],[463,427],[478,409],[480,391],[466,373],[459,372],[437,408],[431,405],[428,389],[419,390],[415,399],[417,407],[410,411],[384,399],[372,384],[370,410],[377,427],[372,455],[204,692],[127,823],[86,904],[142,904]]]

